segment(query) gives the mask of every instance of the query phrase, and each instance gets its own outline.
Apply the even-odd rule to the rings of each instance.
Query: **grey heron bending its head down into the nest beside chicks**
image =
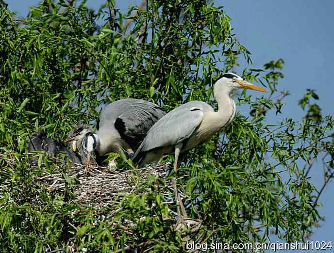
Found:
[[[131,158],[150,127],[165,114],[159,106],[146,100],[117,100],[102,109],[97,133],[79,127],[65,142],[73,141],[74,151],[82,145],[86,165],[95,155],[103,156],[120,150],[125,150]]]

